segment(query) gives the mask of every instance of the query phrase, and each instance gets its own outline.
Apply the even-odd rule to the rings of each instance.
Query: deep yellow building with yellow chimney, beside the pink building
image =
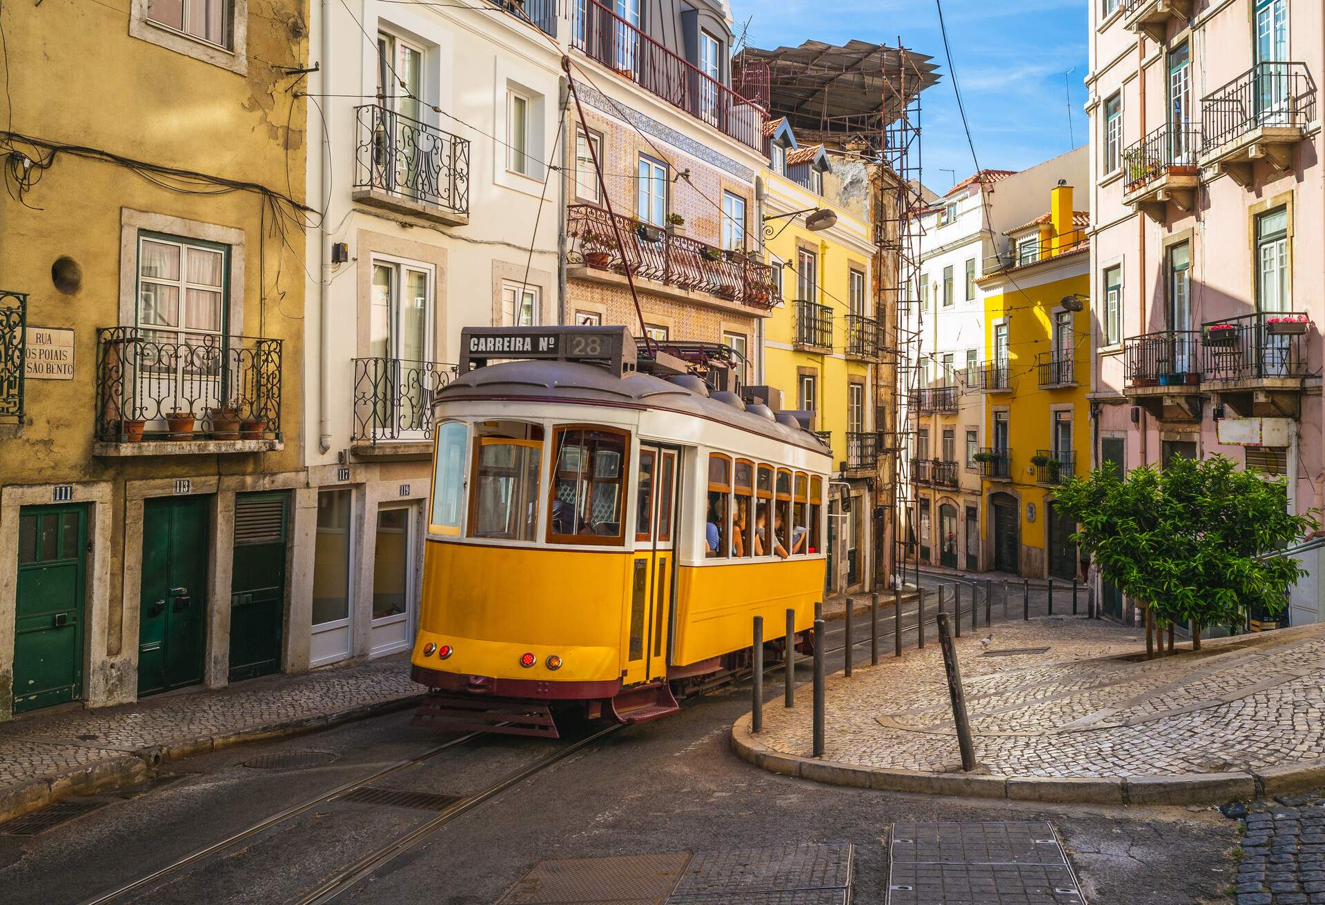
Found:
[[[974,382],[986,405],[975,458],[986,562],[1071,582],[1076,526],[1053,496],[1090,469],[1089,213],[1073,211],[1071,186],[1047,200],[1047,213],[1006,233],[1007,252],[979,280],[991,354]]]

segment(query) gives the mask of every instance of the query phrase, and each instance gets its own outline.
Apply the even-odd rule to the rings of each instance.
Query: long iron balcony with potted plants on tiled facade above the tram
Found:
[[[627,265],[636,280],[651,280],[670,286],[678,298],[716,303],[727,309],[767,311],[782,303],[782,294],[772,281],[772,266],[753,261],[745,254],[723,252],[689,236],[673,236],[655,227],[616,216],[616,229],[607,211],[592,204],[572,204],[567,209],[567,233],[571,249],[567,261],[588,272],[624,274]],[[616,236],[625,245],[623,257]],[[612,277],[608,282],[625,278]],[[713,297],[696,298],[690,293]]]

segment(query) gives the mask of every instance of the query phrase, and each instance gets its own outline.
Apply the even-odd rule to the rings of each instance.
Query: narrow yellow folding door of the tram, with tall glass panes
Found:
[[[640,445],[627,682],[666,676],[677,453]]]

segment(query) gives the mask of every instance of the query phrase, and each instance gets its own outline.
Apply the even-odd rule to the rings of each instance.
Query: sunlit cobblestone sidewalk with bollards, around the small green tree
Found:
[[[1140,631],[1073,617],[1003,623],[957,645],[977,761],[995,776],[1177,776],[1325,758],[1325,627],[1150,661],[1132,656],[1143,652]],[[827,701],[825,761],[928,772],[959,761],[934,639],[832,677]],[[811,730],[808,706],[768,705],[758,742],[803,758]]]

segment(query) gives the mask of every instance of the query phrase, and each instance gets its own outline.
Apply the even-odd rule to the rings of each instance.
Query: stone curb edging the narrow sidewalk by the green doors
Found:
[[[423,694],[409,694],[386,701],[372,701],[331,714],[294,717],[270,723],[246,726],[221,735],[178,742],[174,745],[146,745],[130,754],[114,754],[64,772],[48,774],[0,787],[0,823],[23,816],[40,807],[76,795],[103,795],[126,786],[136,786],[150,779],[167,762],[196,754],[272,738],[288,738],[317,729],[330,729],[355,719],[366,719],[382,713],[405,710],[423,701]]]

